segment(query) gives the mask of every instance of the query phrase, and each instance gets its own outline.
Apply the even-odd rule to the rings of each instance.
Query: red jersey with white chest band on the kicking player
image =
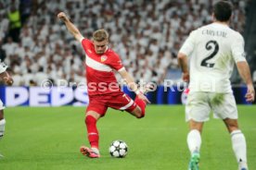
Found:
[[[110,95],[121,91],[113,72],[113,69],[124,69],[119,55],[111,49],[107,49],[102,55],[96,54],[93,42],[88,39],[83,39],[82,45],[86,55],[85,69],[89,96]]]

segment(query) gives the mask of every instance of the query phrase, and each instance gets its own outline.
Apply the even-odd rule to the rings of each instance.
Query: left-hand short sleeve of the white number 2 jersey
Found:
[[[187,37],[186,42],[184,42],[184,44],[182,45],[179,53],[182,53],[185,55],[191,55],[195,46],[195,40],[196,40],[196,30],[193,30]]]

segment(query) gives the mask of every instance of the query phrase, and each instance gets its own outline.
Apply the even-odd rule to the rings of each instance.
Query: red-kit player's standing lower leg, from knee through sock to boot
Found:
[[[99,150],[98,150],[98,131],[96,128],[96,122],[100,118],[101,115],[96,113],[95,111],[88,111],[85,115],[85,125],[87,128],[88,140],[90,142],[91,148],[86,146],[82,146],[80,148],[80,152],[83,155],[86,155],[90,158],[99,158]]]

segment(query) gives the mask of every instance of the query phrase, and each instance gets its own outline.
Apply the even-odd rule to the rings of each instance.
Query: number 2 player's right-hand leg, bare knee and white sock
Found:
[[[237,157],[238,169],[248,170],[247,148],[244,134],[238,128],[237,119],[224,119],[224,124],[231,135],[232,147]]]

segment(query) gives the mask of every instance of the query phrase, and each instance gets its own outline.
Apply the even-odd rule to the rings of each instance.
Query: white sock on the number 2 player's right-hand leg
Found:
[[[234,130],[231,134],[232,147],[238,164],[247,163],[246,140],[241,130]]]

